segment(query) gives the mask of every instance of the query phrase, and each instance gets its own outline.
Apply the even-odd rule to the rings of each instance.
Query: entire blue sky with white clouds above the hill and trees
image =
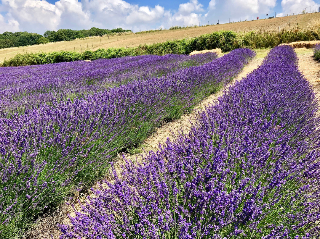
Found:
[[[0,33],[227,23],[301,12],[313,0],[0,0]],[[320,7],[320,5],[319,5]],[[310,8],[309,8],[310,9]],[[314,11],[315,7],[311,7]],[[318,9],[318,6],[316,6]],[[308,10],[307,10],[308,11]]]

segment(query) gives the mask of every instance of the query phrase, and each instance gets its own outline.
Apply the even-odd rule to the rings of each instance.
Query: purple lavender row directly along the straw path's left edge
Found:
[[[164,119],[180,117],[221,89],[254,54],[234,50],[161,78],[133,80],[1,118],[1,237],[18,235],[45,208],[105,173],[119,150],[140,143]]]

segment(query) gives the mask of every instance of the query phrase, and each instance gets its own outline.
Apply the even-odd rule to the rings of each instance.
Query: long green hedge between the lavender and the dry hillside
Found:
[[[280,32],[247,32],[236,33],[234,31],[219,31],[211,34],[200,35],[195,38],[172,40],[151,45],[140,45],[134,48],[108,48],[96,51],[84,51],[83,53],[72,51],[38,52],[18,54],[15,57],[4,60],[1,66],[28,66],[76,60],[96,60],[100,58],[117,58],[124,56],[138,56],[145,54],[189,54],[193,50],[209,50],[221,48],[223,52],[236,48],[268,48],[280,43],[296,41],[318,40],[319,29],[308,31],[280,31]]]

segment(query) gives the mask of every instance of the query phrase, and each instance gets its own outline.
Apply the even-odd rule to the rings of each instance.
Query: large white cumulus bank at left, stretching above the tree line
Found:
[[[0,31],[42,34],[60,28],[123,27],[137,31],[154,27],[196,24],[203,17],[198,0],[181,3],[177,11],[163,6],[139,6],[124,0],[0,0]]]

